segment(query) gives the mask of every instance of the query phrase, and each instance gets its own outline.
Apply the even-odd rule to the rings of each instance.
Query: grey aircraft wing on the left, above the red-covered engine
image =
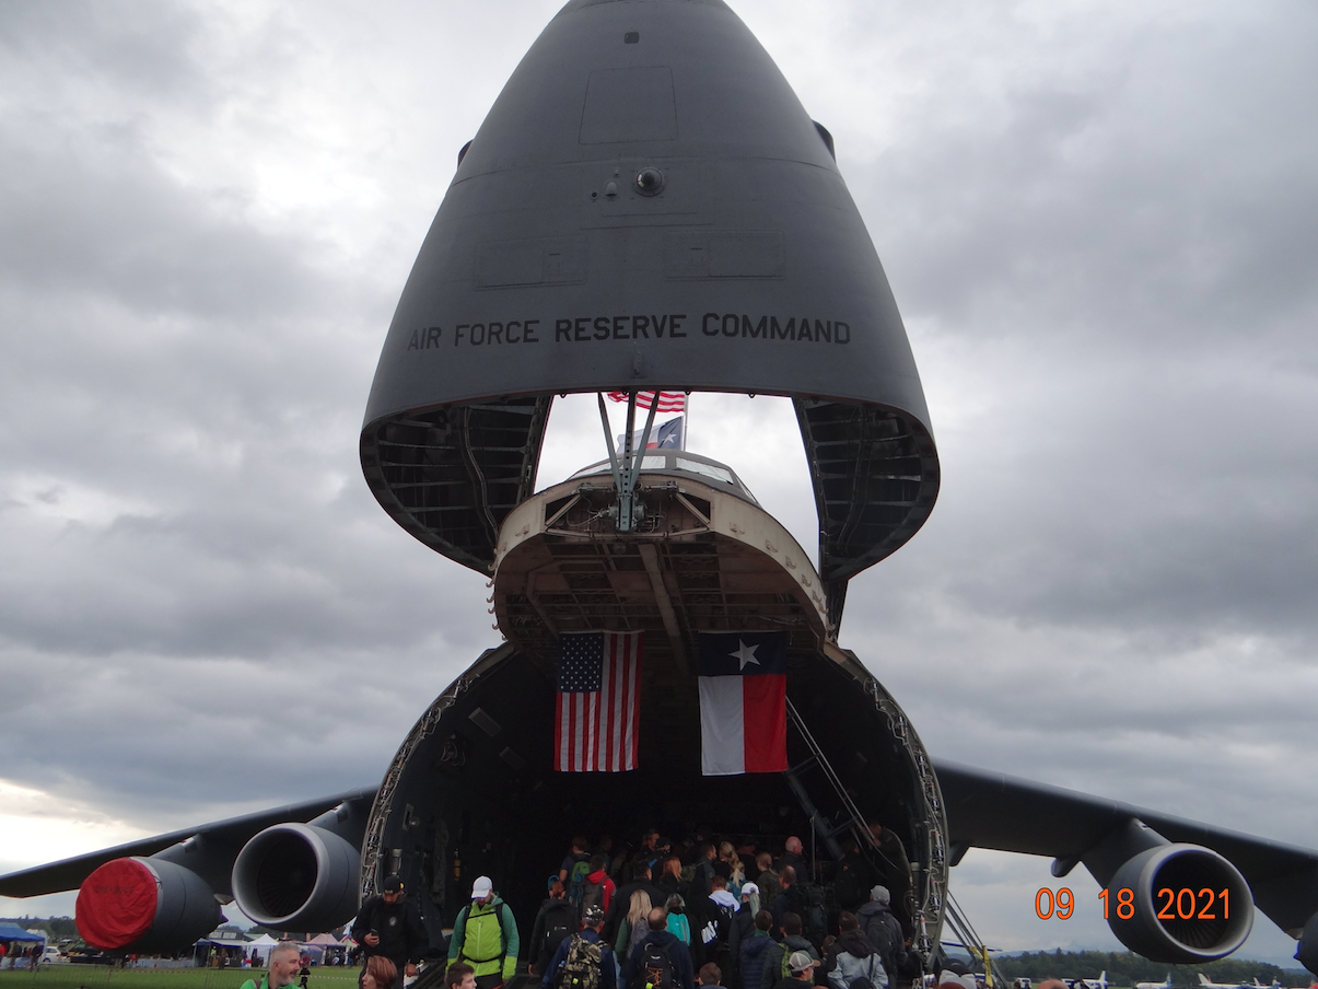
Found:
[[[265,831],[273,824],[285,822],[306,822],[343,803],[364,803],[374,799],[376,787],[348,790],[333,796],[320,796],[314,800],[290,803],[283,807],[244,814],[239,818],[202,824],[183,831],[171,831],[166,835],[138,839],[115,848],[103,848],[99,852],[63,858],[49,865],[37,865],[32,869],[21,869],[8,876],[0,876],[0,895],[3,897],[38,897],[46,893],[65,893],[75,890],[98,868],[115,858],[129,856],[152,856],[171,845],[187,841],[192,837],[204,836],[210,841],[228,845],[235,849],[243,848],[257,832]]]

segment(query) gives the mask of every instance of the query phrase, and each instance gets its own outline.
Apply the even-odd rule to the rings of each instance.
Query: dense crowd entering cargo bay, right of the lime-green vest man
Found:
[[[731,841],[675,848],[656,829],[631,854],[577,836],[547,878],[529,971],[540,989],[895,986],[920,973],[911,969],[909,930],[878,880],[891,877],[905,894],[909,864],[895,836],[879,825],[871,833],[887,854],[853,844],[822,877],[795,836],[776,857]],[[875,858],[890,868],[880,872]],[[584,978],[583,968],[600,974]]]

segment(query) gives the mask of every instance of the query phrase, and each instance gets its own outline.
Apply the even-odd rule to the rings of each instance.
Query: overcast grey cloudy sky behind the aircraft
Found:
[[[0,872],[372,785],[497,644],[357,433],[558,5],[0,0]],[[1318,845],[1318,7],[738,13],[834,135],[942,460],[842,644],[936,757]],[[786,404],[697,396],[691,438],[813,549]],[[1044,860],[953,882],[990,944],[1118,947],[1083,870],[1069,922]]]

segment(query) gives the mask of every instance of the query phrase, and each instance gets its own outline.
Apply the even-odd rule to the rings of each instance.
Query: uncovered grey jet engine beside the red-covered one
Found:
[[[328,931],[357,913],[361,856],[315,824],[275,824],[233,862],[233,899],[249,918],[281,930]]]

